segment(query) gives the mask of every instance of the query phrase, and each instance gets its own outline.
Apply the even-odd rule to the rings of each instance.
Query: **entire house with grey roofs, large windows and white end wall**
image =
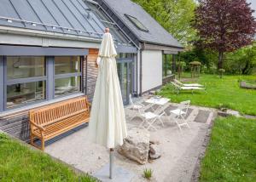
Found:
[[[0,129],[26,140],[30,109],[84,94],[92,100],[96,58],[106,26],[119,53],[124,103],[129,102],[129,94],[159,88],[166,72],[162,61],[183,48],[137,4],[2,0]]]

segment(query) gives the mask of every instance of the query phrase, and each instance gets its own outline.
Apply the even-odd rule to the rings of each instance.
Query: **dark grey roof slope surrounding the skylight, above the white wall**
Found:
[[[183,48],[168,31],[160,26],[137,3],[132,3],[130,0],[96,0],[96,2],[100,4],[104,3],[106,5],[105,8],[108,6],[109,9],[113,10],[113,15],[117,15],[119,20],[126,25],[126,28],[130,29],[141,42]],[[125,14],[137,18],[143,26],[147,27],[148,32],[139,30]]]

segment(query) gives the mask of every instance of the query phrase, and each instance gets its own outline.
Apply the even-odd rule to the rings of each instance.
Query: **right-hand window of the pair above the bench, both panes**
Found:
[[[80,91],[80,57],[55,57],[55,97]]]

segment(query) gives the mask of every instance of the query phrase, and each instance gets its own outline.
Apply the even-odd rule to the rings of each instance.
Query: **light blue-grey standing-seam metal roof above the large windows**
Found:
[[[106,27],[83,0],[0,0],[0,25],[99,39]],[[120,34],[114,40],[128,44]]]

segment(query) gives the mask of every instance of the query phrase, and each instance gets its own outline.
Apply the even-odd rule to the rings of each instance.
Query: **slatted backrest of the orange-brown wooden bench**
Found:
[[[29,111],[29,117],[31,122],[44,127],[50,123],[61,121],[67,117],[73,117],[82,112],[90,112],[87,97],[66,100]]]

